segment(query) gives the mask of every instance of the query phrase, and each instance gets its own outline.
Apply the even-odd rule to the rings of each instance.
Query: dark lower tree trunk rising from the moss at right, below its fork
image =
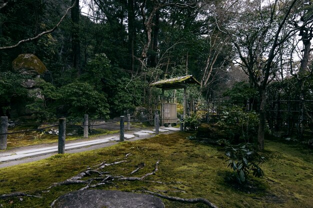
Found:
[[[257,148],[258,150],[264,150],[264,133],[265,133],[265,114],[266,114],[266,104],[267,104],[267,92],[266,89],[260,90],[261,103],[259,109],[259,123],[257,131]]]

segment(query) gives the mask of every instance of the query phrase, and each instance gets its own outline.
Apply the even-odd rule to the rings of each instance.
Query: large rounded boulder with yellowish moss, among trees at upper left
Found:
[[[13,69],[26,75],[39,75],[45,72],[47,69],[40,59],[31,53],[22,53],[12,61]]]

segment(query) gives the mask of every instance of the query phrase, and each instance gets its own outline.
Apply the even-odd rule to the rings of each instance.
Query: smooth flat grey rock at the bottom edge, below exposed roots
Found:
[[[51,208],[165,208],[152,195],[120,191],[83,190],[60,196]]]

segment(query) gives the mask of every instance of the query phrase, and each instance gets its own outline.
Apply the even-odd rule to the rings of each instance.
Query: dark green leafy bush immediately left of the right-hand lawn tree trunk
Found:
[[[229,111],[222,112],[221,119],[216,126],[229,139],[242,139],[248,142],[257,134],[258,116],[255,112],[244,112],[241,108],[233,107]]]

